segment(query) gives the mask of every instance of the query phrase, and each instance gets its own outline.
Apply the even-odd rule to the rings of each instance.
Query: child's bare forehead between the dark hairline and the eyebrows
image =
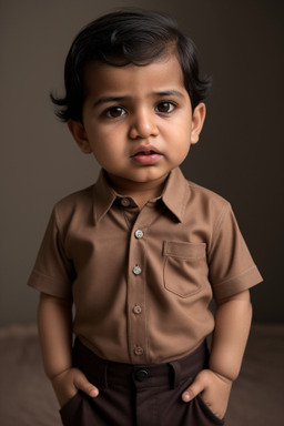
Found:
[[[174,54],[160,58],[146,65],[113,67],[91,62],[84,70],[88,95],[131,92],[132,94],[179,89],[185,91],[182,69]]]

